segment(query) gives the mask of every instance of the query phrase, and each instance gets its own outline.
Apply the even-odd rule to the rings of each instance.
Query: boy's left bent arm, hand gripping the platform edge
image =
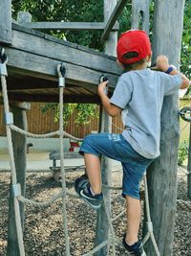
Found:
[[[108,83],[108,81],[103,81],[103,82],[99,83],[97,93],[98,93],[98,95],[101,99],[101,103],[104,106],[108,115],[115,117],[121,112],[121,108],[118,107],[117,105],[113,105],[110,103],[110,99],[108,98],[108,96],[105,93],[107,83]]]

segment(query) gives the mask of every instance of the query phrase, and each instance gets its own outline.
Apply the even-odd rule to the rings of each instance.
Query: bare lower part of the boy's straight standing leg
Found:
[[[140,200],[126,196],[127,230],[126,243],[128,245],[138,242],[138,229],[140,224],[141,205]]]

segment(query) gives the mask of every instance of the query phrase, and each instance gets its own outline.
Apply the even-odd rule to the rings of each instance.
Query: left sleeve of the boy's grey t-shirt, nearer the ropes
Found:
[[[110,103],[125,108],[132,98],[133,86],[128,82],[128,78],[121,76],[117,81],[116,89],[110,99]]]

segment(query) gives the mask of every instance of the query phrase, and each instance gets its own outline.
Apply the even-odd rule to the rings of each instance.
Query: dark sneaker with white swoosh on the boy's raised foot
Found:
[[[97,210],[101,207],[103,194],[92,195],[90,191],[90,183],[87,176],[80,176],[74,181],[74,190],[79,195],[80,198],[83,198],[86,203],[88,203],[93,209]]]

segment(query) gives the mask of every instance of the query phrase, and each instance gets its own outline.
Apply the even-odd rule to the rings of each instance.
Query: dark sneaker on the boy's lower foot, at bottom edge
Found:
[[[143,249],[143,244],[140,240],[136,244],[128,245],[125,241],[126,235],[124,235],[122,244],[125,247],[125,249],[129,252],[130,255],[134,256],[146,256],[146,253]]]

